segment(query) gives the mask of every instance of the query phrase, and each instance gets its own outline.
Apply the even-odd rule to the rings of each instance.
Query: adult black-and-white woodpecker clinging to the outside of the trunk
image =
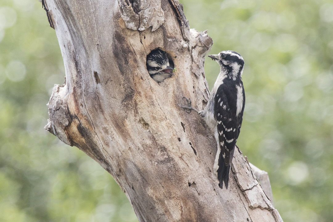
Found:
[[[207,106],[198,111],[191,107],[191,100],[187,106],[180,106],[187,112],[192,110],[199,113],[207,125],[214,130],[217,142],[217,153],[213,171],[217,175],[220,187],[228,188],[229,171],[233,152],[243,120],[245,93],[241,75],[244,68],[243,58],[233,51],[222,51],[218,55],[209,55],[221,69]]]

